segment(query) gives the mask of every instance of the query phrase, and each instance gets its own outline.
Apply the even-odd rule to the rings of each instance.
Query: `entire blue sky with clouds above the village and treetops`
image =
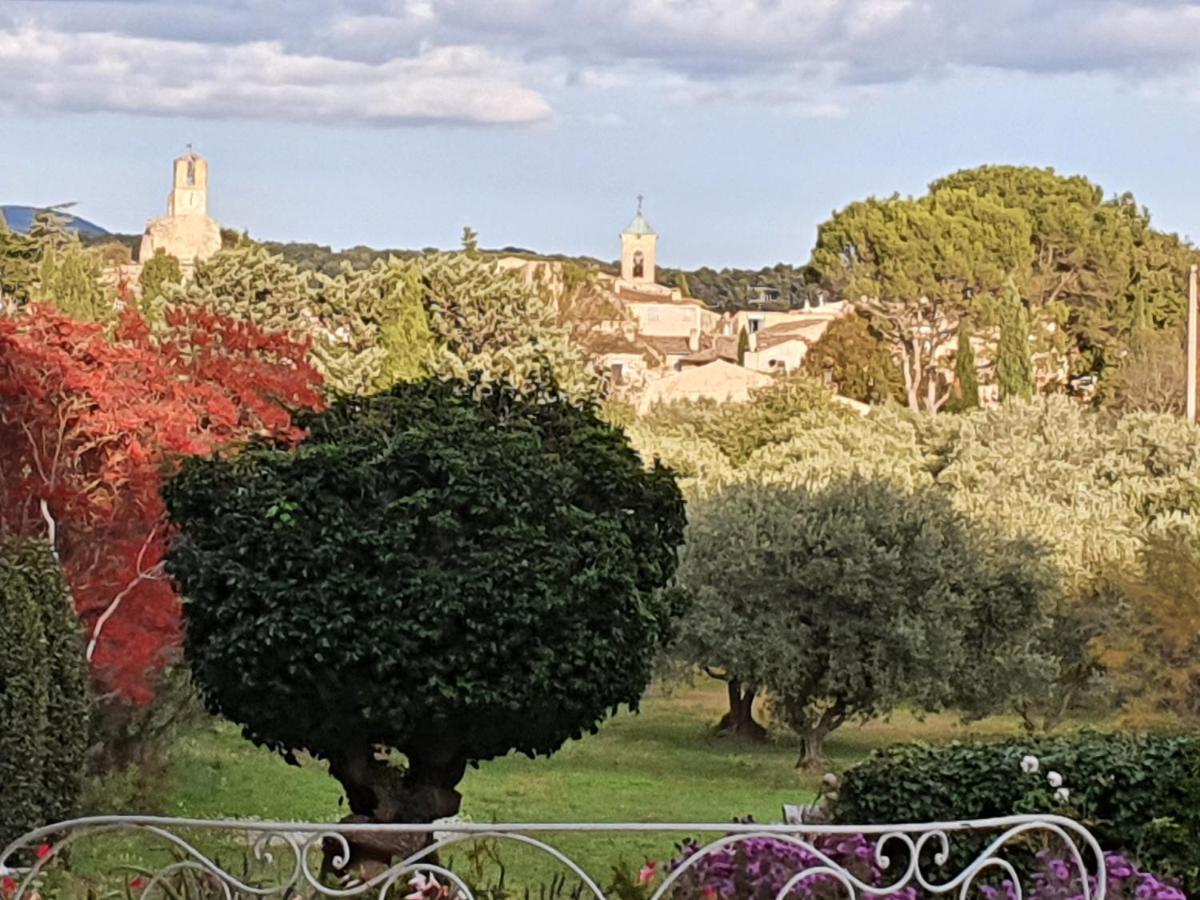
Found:
[[[269,240],[803,264],[845,204],[983,163],[1200,239],[1200,2],[0,0],[0,203]]]

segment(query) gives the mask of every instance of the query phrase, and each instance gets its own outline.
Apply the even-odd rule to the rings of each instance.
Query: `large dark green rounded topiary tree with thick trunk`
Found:
[[[466,766],[636,707],[672,622],[667,470],[545,389],[398,384],[306,425],[293,450],[188,460],[166,491],[214,712],[329,760],[355,814],[428,821]]]

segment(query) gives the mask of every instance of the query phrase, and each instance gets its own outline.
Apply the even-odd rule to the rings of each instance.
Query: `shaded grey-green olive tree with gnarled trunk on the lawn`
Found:
[[[928,488],[732,485],[692,504],[677,580],[682,646],[763,686],[809,768],[844,722],[992,712],[1050,677],[1031,640],[1056,587],[1044,554],[985,539]]]

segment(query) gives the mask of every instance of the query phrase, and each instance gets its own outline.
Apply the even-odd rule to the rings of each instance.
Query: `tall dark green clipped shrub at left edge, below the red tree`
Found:
[[[86,684],[78,619],[50,548],[0,542],[0,847],[74,811]]]

